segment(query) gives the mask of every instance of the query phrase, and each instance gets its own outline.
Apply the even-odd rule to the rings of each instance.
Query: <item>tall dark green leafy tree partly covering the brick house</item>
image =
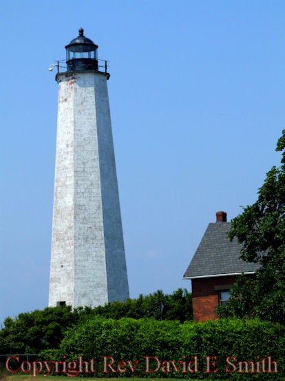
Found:
[[[232,221],[229,239],[242,244],[241,257],[260,263],[253,277],[240,276],[221,317],[258,317],[285,322],[285,130],[277,141],[281,166],[273,166],[258,190],[257,201]]]

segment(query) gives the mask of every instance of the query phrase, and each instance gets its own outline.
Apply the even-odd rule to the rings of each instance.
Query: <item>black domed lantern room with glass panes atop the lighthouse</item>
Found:
[[[84,36],[84,30],[65,46],[67,71],[98,70],[97,48],[91,39]]]

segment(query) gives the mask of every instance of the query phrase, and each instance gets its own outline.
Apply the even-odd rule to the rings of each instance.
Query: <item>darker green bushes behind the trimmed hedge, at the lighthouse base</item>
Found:
[[[94,309],[70,306],[47,307],[43,311],[20,313],[4,320],[0,331],[0,354],[39,353],[43,349],[59,347],[65,331],[75,324],[84,324],[101,316],[118,320],[121,317],[150,317],[154,320],[192,319],[191,293],[178,289],[172,294],[162,291],[140,295],[126,302],[112,302]]]

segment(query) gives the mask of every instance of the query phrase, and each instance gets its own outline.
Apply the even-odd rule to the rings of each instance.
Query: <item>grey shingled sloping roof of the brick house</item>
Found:
[[[183,278],[237,275],[257,270],[258,264],[240,259],[241,246],[237,238],[231,242],[226,234],[230,228],[231,222],[209,224]]]

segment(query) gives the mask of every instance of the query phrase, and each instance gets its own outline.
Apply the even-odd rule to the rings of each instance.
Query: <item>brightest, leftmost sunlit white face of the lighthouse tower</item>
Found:
[[[74,304],[74,88],[59,84],[49,306]]]

